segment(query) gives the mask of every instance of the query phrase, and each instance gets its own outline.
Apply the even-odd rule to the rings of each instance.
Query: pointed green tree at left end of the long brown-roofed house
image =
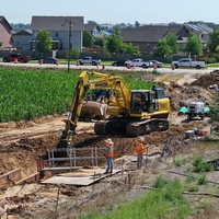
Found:
[[[123,53],[124,51],[124,43],[120,37],[120,32],[118,27],[115,28],[115,33],[106,38],[106,48],[110,53]]]

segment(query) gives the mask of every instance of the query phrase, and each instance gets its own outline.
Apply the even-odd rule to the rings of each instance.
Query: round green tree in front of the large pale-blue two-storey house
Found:
[[[49,53],[53,49],[50,32],[48,30],[42,30],[36,33],[36,50],[42,54]]]

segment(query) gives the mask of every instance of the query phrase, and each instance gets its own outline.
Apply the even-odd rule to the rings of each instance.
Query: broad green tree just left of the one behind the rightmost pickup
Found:
[[[174,34],[168,34],[165,38],[158,42],[158,46],[153,49],[153,56],[166,57],[171,60],[173,55],[178,53],[177,37]]]

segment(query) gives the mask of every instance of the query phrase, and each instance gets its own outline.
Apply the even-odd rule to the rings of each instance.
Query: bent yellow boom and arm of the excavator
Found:
[[[97,78],[89,80],[89,76]],[[131,91],[123,78],[100,72],[82,71],[69,107],[68,118],[64,119],[66,128],[62,131],[58,148],[66,147],[76,134],[83,101],[89,90],[113,90],[114,101],[111,104],[115,115],[125,115],[130,112],[128,103],[130,102]]]

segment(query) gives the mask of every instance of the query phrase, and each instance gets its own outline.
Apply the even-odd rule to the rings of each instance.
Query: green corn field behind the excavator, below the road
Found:
[[[0,68],[0,123],[62,114],[71,103],[80,71]],[[154,83],[124,77],[130,89]]]

